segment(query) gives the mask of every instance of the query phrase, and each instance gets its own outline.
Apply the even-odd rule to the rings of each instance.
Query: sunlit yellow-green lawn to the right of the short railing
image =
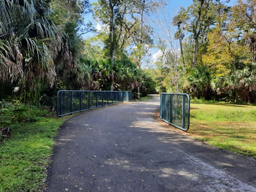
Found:
[[[212,146],[256,158],[256,106],[192,102],[188,133]]]

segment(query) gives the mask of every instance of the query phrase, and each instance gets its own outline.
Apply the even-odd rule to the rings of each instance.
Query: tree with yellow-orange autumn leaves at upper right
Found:
[[[213,76],[221,77],[230,73],[235,55],[242,55],[246,46],[236,42],[234,25],[230,23],[230,9],[223,10],[217,17],[215,27],[207,35],[207,53],[203,55],[204,65],[210,67]]]

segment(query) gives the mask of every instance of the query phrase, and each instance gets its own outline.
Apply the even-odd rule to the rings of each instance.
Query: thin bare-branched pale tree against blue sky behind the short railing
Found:
[[[155,64],[158,65],[159,63],[159,67],[165,69],[165,78],[168,79],[167,84],[170,85],[169,90],[179,92],[179,78],[182,69],[180,70],[178,62],[180,58],[179,43],[174,38],[177,31],[172,25],[171,13],[162,7],[154,11],[154,17],[150,20],[155,28],[153,37],[159,49]]]

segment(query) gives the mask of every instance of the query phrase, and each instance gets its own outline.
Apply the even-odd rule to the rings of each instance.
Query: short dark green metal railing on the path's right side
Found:
[[[190,98],[186,93],[161,93],[160,117],[183,131],[189,129]]]

